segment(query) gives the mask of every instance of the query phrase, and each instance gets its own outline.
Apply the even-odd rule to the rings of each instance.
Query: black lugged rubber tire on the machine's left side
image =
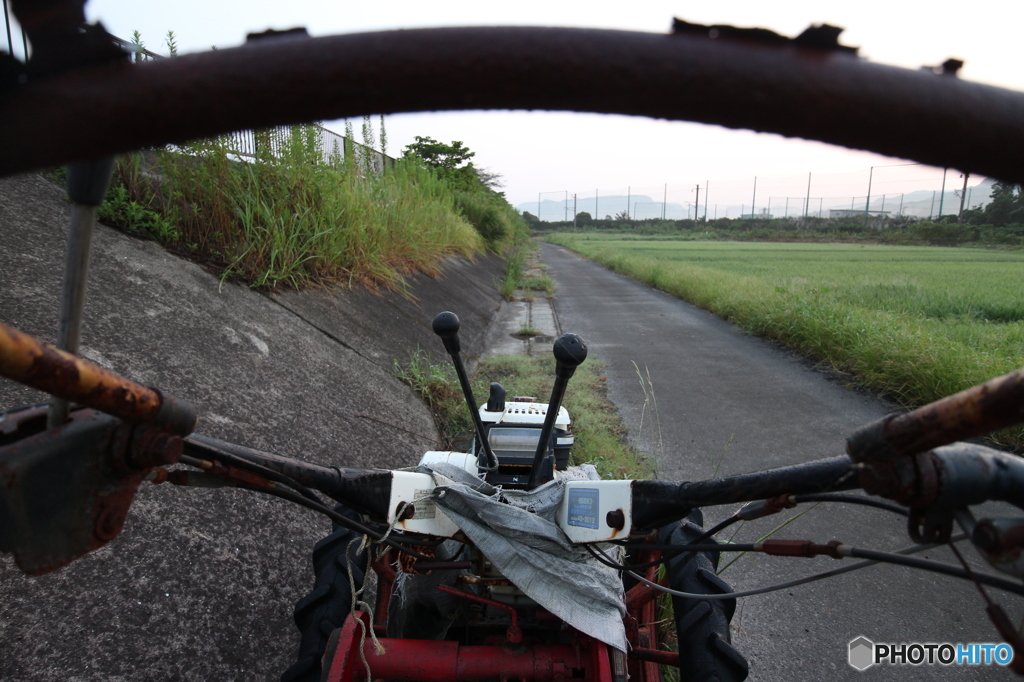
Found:
[[[345,507],[339,505],[335,509],[354,517]],[[295,604],[295,625],[302,635],[299,655],[296,663],[281,676],[281,682],[319,682],[327,641],[352,610],[349,566],[356,589],[362,585],[366,574],[369,551],[361,556],[355,555],[360,540],[358,534],[335,525],[334,532],[313,547],[313,573],[316,577],[313,589]]]

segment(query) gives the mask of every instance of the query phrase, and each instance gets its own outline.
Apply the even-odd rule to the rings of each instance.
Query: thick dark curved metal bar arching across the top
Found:
[[[1020,92],[793,44],[543,28],[259,41],[36,80],[0,97],[0,175],[250,127],[486,109],[697,121],[1024,182]]]

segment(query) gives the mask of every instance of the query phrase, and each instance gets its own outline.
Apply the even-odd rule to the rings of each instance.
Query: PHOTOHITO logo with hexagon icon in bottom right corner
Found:
[[[949,644],[934,642],[877,644],[863,635],[850,642],[850,665],[867,670],[876,664],[890,666],[1009,666],[1014,650],[1009,644]]]

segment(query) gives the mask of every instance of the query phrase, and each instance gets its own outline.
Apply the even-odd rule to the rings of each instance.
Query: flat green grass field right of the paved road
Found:
[[[918,406],[1024,366],[1024,254],[553,235]],[[997,440],[1020,450],[1024,432]]]

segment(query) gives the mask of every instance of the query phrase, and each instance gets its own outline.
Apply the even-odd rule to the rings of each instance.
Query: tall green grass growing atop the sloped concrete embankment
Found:
[[[122,158],[130,201],[172,225],[150,236],[257,287],[358,282],[400,287],[449,255],[483,250],[447,185],[399,161],[374,172],[346,150],[321,158],[318,129],[257,133],[255,160],[226,138]]]

